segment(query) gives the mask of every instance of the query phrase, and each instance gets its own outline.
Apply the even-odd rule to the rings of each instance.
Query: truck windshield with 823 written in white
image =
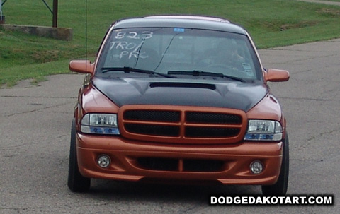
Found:
[[[118,71],[118,68],[124,67],[147,70],[146,73],[173,73],[174,76],[176,72],[188,71],[180,73],[181,78],[191,78],[193,73],[203,71],[205,74],[210,72],[243,79],[261,79],[259,60],[248,38],[214,30],[113,30],[99,58],[96,75],[108,75],[106,68]]]

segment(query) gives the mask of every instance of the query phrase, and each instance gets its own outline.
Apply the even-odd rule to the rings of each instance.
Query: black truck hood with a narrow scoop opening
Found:
[[[266,95],[263,83],[169,78],[98,78],[92,83],[115,105],[183,105],[249,111]]]

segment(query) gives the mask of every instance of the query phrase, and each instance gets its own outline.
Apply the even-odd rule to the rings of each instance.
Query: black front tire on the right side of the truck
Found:
[[[288,189],[288,174],[289,174],[289,140],[288,135],[285,135],[283,141],[283,157],[278,181],[273,185],[262,186],[263,196],[285,196]]]

